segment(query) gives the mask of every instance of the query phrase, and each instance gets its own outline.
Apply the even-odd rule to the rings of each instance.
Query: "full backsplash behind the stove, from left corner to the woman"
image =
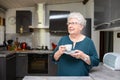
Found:
[[[6,34],[6,40],[16,40],[18,37],[19,42],[26,42],[31,48],[39,48],[41,46],[48,46],[48,49],[52,49],[52,44],[57,44],[60,38],[66,33],[50,33],[48,29],[34,29],[32,33],[24,34]]]

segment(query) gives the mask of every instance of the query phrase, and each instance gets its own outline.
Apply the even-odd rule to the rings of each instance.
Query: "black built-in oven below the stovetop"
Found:
[[[28,74],[48,74],[48,54],[28,54]]]

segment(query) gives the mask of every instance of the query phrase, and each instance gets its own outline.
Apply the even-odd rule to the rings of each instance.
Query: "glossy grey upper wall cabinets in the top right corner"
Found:
[[[120,0],[94,0],[95,30],[120,29]]]

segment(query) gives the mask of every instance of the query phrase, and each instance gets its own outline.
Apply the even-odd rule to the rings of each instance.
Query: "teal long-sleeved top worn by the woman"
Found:
[[[53,55],[58,50],[60,45],[65,45],[65,44],[73,44],[69,36],[64,36],[60,39],[56,49],[53,52]],[[59,60],[56,61],[58,65],[58,75],[59,76],[88,76],[90,69],[93,66],[97,66],[99,64],[98,55],[97,55],[96,48],[94,46],[93,41],[90,38],[85,37],[84,40],[76,43],[73,50],[81,50],[85,54],[89,55],[91,60],[91,65],[86,64],[81,59],[76,59],[68,54],[63,54],[59,58]]]

